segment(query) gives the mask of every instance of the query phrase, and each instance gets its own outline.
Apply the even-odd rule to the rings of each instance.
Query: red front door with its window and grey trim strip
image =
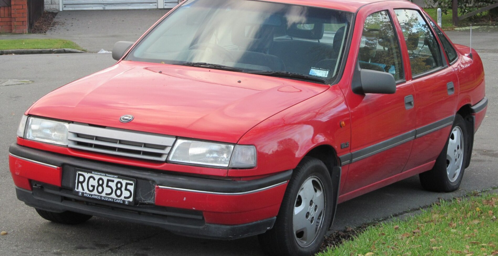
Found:
[[[373,190],[369,186],[373,183],[399,174],[415,136],[415,110],[410,105],[415,91],[405,80],[392,20],[392,12],[380,4],[367,5],[357,15],[355,26],[363,27],[363,31],[355,31],[362,34],[357,69],[388,72],[397,86],[394,94],[355,94],[350,85],[341,85],[350,108],[352,133],[349,172],[341,190],[346,200]]]

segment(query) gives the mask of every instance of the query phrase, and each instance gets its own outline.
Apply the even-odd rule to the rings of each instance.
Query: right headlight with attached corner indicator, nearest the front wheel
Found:
[[[169,161],[217,167],[252,168],[256,166],[256,148],[252,145],[178,139],[169,154]]]

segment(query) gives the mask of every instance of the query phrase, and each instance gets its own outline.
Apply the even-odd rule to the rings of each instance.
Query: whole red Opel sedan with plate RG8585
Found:
[[[488,103],[479,55],[403,0],[187,0],[113,57],[25,112],[18,199],[269,255],[398,180],[457,189]]]

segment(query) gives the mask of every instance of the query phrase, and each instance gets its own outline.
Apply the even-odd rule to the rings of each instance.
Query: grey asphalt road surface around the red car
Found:
[[[467,32],[449,33],[457,43],[468,44]],[[333,230],[425,207],[442,197],[450,199],[473,190],[498,186],[498,46],[496,30],[478,34],[473,46],[482,49],[486,69],[487,118],[476,134],[473,160],[466,169],[461,189],[453,193],[422,190],[412,177],[355,198],[338,207]],[[15,197],[8,171],[8,146],[14,142],[22,113],[37,99],[79,77],[114,63],[110,54],[3,55],[0,79],[27,79],[31,84],[0,86],[0,255],[262,255],[255,237],[236,241],[211,241],[173,235],[167,231],[103,218],[64,226],[39,217]]]

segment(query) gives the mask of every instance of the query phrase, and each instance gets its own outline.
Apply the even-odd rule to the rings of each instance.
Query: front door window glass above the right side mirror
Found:
[[[399,44],[387,11],[370,14],[365,20],[358,62],[362,69],[391,73],[396,81],[403,79]]]

